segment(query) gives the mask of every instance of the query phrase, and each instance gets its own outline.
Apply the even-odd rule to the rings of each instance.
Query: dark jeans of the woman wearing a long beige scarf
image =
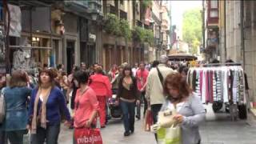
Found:
[[[54,126],[46,126],[37,128],[37,134],[31,134],[32,144],[58,144],[58,134],[60,132],[60,124]]]

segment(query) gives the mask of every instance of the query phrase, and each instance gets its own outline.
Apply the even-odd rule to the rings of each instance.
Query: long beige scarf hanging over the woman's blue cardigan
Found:
[[[46,95],[42,95],[42,98],[44,98],[44,99],[42,99],[42,104],[41,104],[40,111],[38,114],[38,101],[39,101],[40,95],[42,93],[42,88],[41,87],[38,88],[38,93],[34,100],[34,114],[33,114],[33,119],[32,119],[31,134],[37,133],[38,118],[41,121],[40,126],[44,129],[46,129],[46,102],[49,98],[50,90],[51,90],[51,86],[47,89]],[[38,117],[37,117],[37,114],[38,114]],[[40,116],[41,116],[41,118],[40,118]]]

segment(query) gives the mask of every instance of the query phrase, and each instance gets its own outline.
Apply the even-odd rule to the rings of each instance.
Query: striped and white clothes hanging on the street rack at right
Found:
[[[190,68],[187,81],[203,103],[246,101],[242,66]]]

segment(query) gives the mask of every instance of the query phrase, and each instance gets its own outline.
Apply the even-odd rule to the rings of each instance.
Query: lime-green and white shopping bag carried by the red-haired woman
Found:
[[[181,144],[181,127],[172,125],[170,128],[157,130],[158,144]]]

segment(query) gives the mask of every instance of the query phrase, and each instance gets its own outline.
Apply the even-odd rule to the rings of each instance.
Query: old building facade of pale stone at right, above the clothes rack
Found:
[[[232,59],[234,62],[241,63],[246,71],[250,100],[256,100],[256,29],[255,15],[256,2],[254,1],[213,1],[207,0],[205,3],[218,2],[218,57],[211,55],[206,50],[208,58],[218,58],[221,62]],[[206,7],[209,8],[209,5]],[[206,14],[206,13],[205,13]],[[206,19],[209,19],[206,17]],[[206,32],[207,35],[207,32]],[[209,33],[208,33],[209,35]],[[207,39],[207,38],[206,38]]]

